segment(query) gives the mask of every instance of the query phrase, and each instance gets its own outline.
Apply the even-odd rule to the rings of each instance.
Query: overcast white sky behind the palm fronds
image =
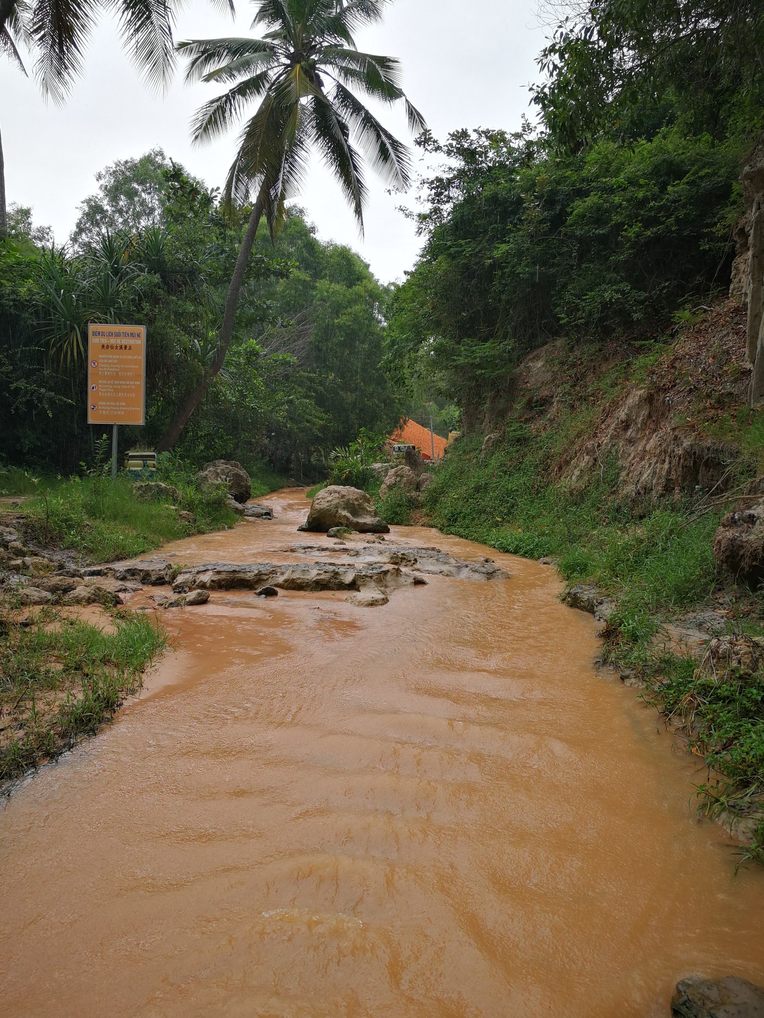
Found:
[[[537,0],[396,0],[386,20],[359,37],[362,49],[397,57],[404,88],[433,133],[457,127],[516,130],[529,110],[528,84],[544,44],[535,16]],[[237,3],[235,26],[204,0],[192,0],[178,19],[175,38],[245,35],[251,3]],[[1,58],[0,58],[1,59]],[[28,68],[29,69],[29,68]],[[92,40],[85,75],[66,105],[45,104],[34,76],[24,78],[0,62],[0,128],[8,202],[32,206],[35,222],[50,224],[60,242],[77,217],[77,205],[96,190],[95,173],[115,159],[161,146],[210,185],[221,185],[236,132],[213,146],[192,148],[188,121],[213,94],[211,86],[186,87],[179,66],[167,95],[153,95],[123,52],[113,21],[104,19]],[[402,115],[385,113],[400,137]],[[419,159],[419,150],[416,150]],[[399,195],[388,195],[369,174],[371,201],[361,240],[352,216],[320,161],[311,166],[301,205],[322,239],[349,244],[384,282],[402,279],[420,241],[399,212]]]

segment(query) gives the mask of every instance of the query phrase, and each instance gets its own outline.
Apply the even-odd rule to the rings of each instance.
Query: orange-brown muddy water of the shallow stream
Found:
[[[270,501],[167,551],[333,545]],[[0,811],[3,1014],[657,1018],[689,973],[764,981],[764,873],[554,570],[395,539],[512,575],[161,615],[141,698]]]

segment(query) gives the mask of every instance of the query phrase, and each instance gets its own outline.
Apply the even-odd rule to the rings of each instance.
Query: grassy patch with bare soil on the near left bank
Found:
[[[166,636],[146,615],[113,619],[109,633],[51,608],[28,620],[0,601],[0,779],[92,735],[140,689]]]

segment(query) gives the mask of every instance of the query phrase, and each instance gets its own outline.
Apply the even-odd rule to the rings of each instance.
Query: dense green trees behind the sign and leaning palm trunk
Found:
[[[101,175],[68,248],[48,246],[29,212],[0,249],[0,403],[11,465],[70,473],[102,430],[86,423],[89,322],[148,327],[147,426],[122,448],[153,446],[215,354],[241,226],[218,195],[160,152]],[[275,248],[250,260],[224,370],[176,454],[309,475],[362,427],[399,414],[383,369],[386,290],[348,248],[319,242],[292,212]]]

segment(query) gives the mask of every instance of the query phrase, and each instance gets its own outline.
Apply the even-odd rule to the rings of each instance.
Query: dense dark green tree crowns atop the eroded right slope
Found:
[[[468,410],[560,334],[655,335],[689,295],[728,281],[739,150],[665,130],[568,156],[528,131],[456,131],[430,149],[426,235],[392,300],[390,361]]]

